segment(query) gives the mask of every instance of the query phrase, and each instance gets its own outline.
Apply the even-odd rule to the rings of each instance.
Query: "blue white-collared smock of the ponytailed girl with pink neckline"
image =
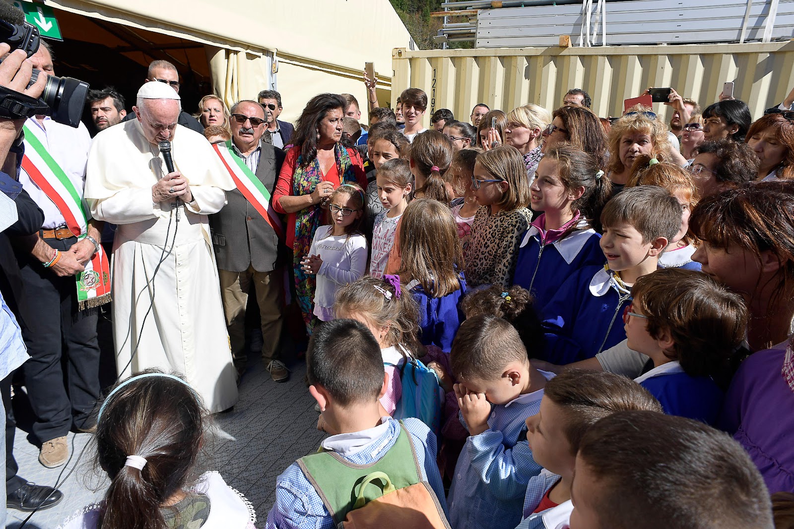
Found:
[[[513,283],[529,290],[535,298],[535,308],[540,310],[573,272],[585,266],[600,266],[603,251],[599,245],[601,236],[592,228],[577,228],[562,239],[543,243],[541,232],[534,225],[538,219],[518,248]],[[579,225],[586,226],[587,222]]]

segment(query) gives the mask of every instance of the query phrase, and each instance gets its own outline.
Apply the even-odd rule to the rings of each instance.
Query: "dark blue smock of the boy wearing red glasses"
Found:
[[[657,398],[668,415],[714,425],[723,407],[723,392],[711,377],[691,377],[677,360],[656,366],[634,381]]]

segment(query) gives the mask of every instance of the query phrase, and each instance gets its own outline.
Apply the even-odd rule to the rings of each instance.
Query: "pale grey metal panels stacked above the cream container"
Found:
[[[746,40],[761,40],[769,1],[753,2]],[[634,0],[607,4],[607,44],[695,44],[738,42],[746,0]],[[592,14],[595,24],[597,12]],[[557,44],[571,35],[579,44],[581,6],[534,6],[482,10],[477,15],[477,48],[526,48]],[[781,0],[774,18],[772,40],[790,39],[794,30],[794,0]],[[598,42],[601,41],[600,29]]]

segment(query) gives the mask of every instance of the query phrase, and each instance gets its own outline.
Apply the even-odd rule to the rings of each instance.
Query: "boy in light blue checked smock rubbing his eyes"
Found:
[[[526,442],[527,416],[538,412],[545,382],[515,328],[496,316],[465,320],[449,355],[468,439],[449,489],[453,529],[512,529],[526,483],[541,467]]]

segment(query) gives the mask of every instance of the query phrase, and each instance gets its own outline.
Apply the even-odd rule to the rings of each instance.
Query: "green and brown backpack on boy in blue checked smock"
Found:
[[[322,451],[298,460],[340,529],[450,529],[436,494],[422,481],[414,443],[403,421],[394,446],[372,465],[353,465]],[[380,484],[380,485],[379,485]]]

